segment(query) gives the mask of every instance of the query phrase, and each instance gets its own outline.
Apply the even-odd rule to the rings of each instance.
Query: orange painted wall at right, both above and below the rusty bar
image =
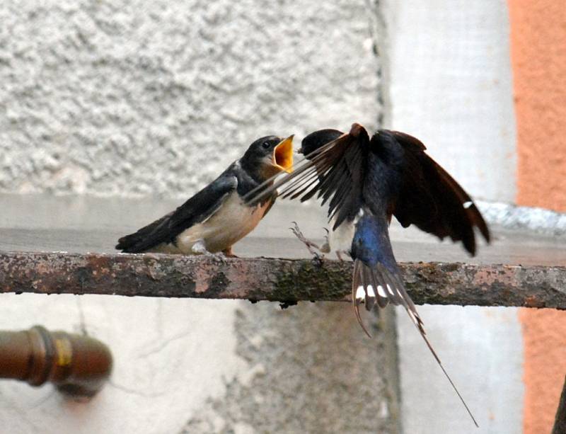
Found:
[[[566,211],[566,3],[509,0],[517,202]],[[566,313],[521,309],[524,433],[550,433],[566,375]]]

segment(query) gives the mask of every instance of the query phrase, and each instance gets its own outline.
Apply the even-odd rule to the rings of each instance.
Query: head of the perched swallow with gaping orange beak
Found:
[[[256,178],[265,181],[277,173],[290,173],[293,166],[293,136],[266,136],[255,140],[240,160]]]

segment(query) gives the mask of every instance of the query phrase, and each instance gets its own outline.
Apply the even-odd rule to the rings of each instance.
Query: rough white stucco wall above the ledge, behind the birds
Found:
[[[186,195],[263,135],[376,126],[364,1],[0,5],[0,190]]]

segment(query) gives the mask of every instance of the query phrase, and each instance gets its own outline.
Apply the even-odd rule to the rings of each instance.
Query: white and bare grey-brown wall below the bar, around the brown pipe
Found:
[[[115,361],[110,383],[86,402],[49,385],[0,382],[2,433],[398,432],[383,382],[382,351],[394,354],[394,339],[365,338],[347,304],[282,311],[229,300],[0,301],[0,329],[84,327]],[[391,325],[390,317],[382,327]]]

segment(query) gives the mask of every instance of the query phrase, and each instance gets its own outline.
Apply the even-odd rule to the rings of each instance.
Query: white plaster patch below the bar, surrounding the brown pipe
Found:
[[[50,385],[35,389],[2,381],[3,433],[179,433],[204,401],[226,394],[226,381],[237,378],[246,384],[254,375],[253,367],[236,354],[234,302],[0,298],[0,329],[42,324],[81,333],[84,326],[110,346],[114,357],[110,383],[87,402],[66,399]]]

